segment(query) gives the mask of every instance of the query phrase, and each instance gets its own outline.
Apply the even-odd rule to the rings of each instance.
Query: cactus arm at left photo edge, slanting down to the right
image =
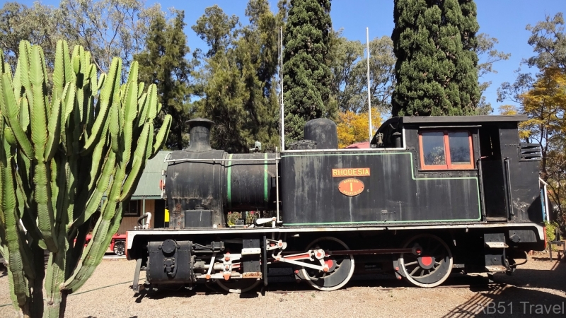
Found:
[[[14,136],[18,144],[21,146],[22,151],[28,158],[33,158],[35,156],[33,146],[31,146],[28,136],[20,126],[18,121],[18,109],[16,107],[16,98],[13,95],[13,88],[11,86],[11,78],[8,74],[2,74],[0,85],[0,112],[4,115],[6,122],[11,126]],[[45,133],[45,131],[44,131]]]

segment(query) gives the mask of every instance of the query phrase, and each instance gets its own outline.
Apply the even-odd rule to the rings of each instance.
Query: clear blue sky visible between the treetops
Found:
[[[19,1],[24,4],[32,4],[33,1]],[[57,5],[59,1],[41,1],[43,4]],[[146,0],[146,4],[156,1]],[[197,18],[202,16],[204,8],[218,4],[228,15],[235,14],[240,17],[242,23],[247,23],[244,11],[247,0],[186,0],[186,1],[157,1],[163,9],[178,8],[185,11],[185,33],[187,34],[190,48],[201,48],[206,51],[206,44],[197,37],[190,28]],[[484,76],[482,81],[492,81],[492,86],[487,89],[485,96],[487,102],[497,112],[501,105],[497,100],[497,88],[503,82],[513,82],[516,69],[519,68],[522,59],[533,55],[533,49],[527,43],[529,31],[525,30],[527,24],[534,25],[543,20],[545,15],[554,16],[555,13],[566,11],[564,0],[476,0],[478,6],[478,23],[480,33],[487,33],[499,40],[496,49],[511,53],[507,61],[495,64],[496,74]],[[272,10],[277,10],[277,0],[270,0]],[[391,36],[393,30],[393,0],[333,0],[330,16],[333,20],[333,28],[342,28],[345,37],[350,40],[366,40],[366,27],[369,28],[370,38]],[[276,36],[276,35],[274,35]],[[526,66],[523,71],[529,71]],[[530,70],[536,71],[536,70]]]

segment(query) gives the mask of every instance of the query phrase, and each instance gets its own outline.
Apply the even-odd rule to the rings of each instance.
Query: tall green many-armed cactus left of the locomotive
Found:
[[[120,59],[98,76],[89,52],[77,46],[69,54],[59,41],[49,86],[41,47],[21,42],[13,75],[0,54],[0,252],[24,316],[63,314],[67,294],[100,264],[146,161],[167,139],[171,116],[154,134],[161,104],[155,85],[144,92],[137,82],[137,67],[120,85]]]

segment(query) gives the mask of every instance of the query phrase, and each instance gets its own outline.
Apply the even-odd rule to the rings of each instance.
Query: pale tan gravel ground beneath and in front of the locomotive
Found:
[[[66,316],[536,317],[552,316],[555,310],[559,313],[554,316],[566,317],[566,261],[549,261],[548,254],[533,255],[513,276],[497,274],[497,284],[491,285],[485,274],[456,274],[432,289],[413,288],[394,279],[358,277],[346,290],[304,292],[306,285],[279,283],[265,293],[243,295],[215,293],[204,286],[134,294],[130,289],[134,265],[125,259],[103,260],[83,288],[69,296]],[[471,287],[456,287],[464,284]],[[281,289],[285,292],[270,291]],[[9,302],[7,275],[0,271],[0,305]],[[0,317],[13,317],[11,305],[0,307]]]

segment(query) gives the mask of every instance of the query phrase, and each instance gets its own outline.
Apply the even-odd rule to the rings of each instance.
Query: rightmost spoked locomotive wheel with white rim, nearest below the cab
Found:
[[[419,287],[431,288],[446,281],[452,271],[452,253],[446,243],[431,234],[411,237],[404,248],[419,245],[420,255],[401,253],[399,264],[407,281]]]

